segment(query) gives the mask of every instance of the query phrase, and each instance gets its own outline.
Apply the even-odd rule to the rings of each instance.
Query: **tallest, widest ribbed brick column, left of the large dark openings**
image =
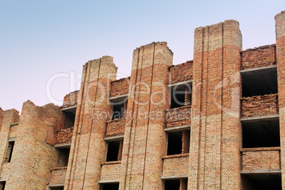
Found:
[[[238,21],[195,30],[188,189],[240,189]]]

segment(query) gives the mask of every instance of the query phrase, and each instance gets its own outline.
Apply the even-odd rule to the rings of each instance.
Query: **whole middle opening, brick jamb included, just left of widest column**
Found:
[[[167,155],[189,153],[190,130],[167,132]]]

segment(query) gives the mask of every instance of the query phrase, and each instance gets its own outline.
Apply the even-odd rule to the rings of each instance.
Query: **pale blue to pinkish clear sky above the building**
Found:
[[[82,65],[104,55],[128,77],[133,50],[152,42],[167,41],[174,65],[192,60],[195,28],[228,19],[240,23],[243,50],[273,44],[284,10],[284,0],[0,0],[0,107],[61,105]]]

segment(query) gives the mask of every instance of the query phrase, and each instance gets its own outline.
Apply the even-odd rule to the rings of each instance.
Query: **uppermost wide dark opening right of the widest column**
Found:
[[[242,76],[242,97],[278,93],[276,67],[251,72],[245,70],[240,74]]]

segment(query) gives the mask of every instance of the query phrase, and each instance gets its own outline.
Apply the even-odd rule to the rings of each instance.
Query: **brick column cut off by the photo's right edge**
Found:
[[[282,189],[285,189],[285,11],[275,16]]]

